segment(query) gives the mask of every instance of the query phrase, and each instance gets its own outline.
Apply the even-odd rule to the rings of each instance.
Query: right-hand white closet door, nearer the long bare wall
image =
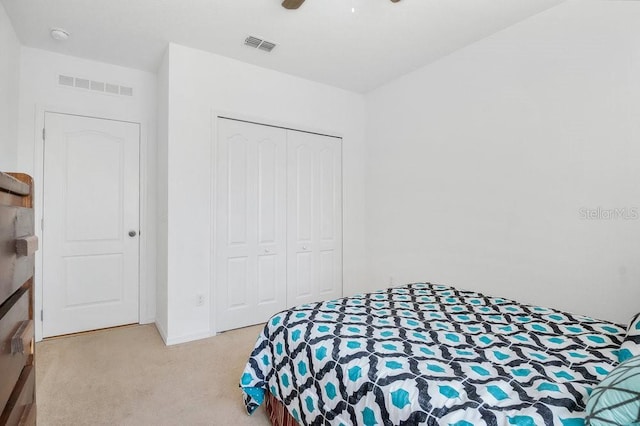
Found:
[[[289,307],[342,296],[341,142],[287,132]]]

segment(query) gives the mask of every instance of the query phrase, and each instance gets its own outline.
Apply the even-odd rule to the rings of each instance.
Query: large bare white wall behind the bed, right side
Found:
[[[370,279],[628,322],[640,310],[638,22],[638,2],[564,3],[371,93]],[[582,218],[598,207],[635,219]]]

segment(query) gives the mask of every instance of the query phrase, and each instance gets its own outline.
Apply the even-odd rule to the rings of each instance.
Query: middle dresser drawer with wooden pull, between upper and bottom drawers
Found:
[[[29,321],[29,297],[31,292],[21,288],[0,306],[0,412],[7,405],[20,373],[29,362],[31,348],[27,338],[24,351],[16,351],[12,338],[16,331]],[[15,353],[12,353],[15,352]],[[2,422],[0,422],[2,424]]]

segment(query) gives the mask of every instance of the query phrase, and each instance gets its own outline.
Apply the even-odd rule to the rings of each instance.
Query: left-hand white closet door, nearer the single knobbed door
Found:
[[[286,131],[218,119],[217,331],[286,307]]]

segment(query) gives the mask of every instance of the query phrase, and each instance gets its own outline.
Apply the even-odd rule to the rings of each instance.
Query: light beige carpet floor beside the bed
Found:
[[[261,329],[170,347],[154,325],[38,343],[38,425],[269,425],[238,388]]]

